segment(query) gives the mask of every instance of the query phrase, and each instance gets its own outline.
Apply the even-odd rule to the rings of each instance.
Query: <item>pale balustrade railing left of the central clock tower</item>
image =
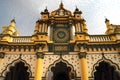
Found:
[[[31,42],[30,36],[13,37],[12,42]]]

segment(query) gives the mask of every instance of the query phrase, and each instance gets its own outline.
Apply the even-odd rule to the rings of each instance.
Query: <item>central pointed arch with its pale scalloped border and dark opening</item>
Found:
[[[76,72],[74,67],[60,57],[48,68],[47,72],[52,72],[53,80],[70,80],[75,79]]]

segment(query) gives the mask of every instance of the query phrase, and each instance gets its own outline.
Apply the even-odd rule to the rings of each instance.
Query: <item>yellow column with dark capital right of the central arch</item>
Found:
[[[87,67],[87,60],[86,60],[86,52],[80,52],[80,67],[81,67],[81,80],[88,80],[88,67]]]

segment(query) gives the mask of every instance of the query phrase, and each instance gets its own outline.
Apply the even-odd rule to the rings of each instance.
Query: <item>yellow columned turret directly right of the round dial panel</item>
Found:
[[[88,40],[86,21],[82,18],[82,11],[80,11],[77,7],[74,11],[74,26],[76,39]]]

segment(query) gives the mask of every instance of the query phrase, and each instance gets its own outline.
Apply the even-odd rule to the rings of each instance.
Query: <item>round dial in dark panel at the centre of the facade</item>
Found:
[[[54,41],[57,43],[65,43],[69,40],[69,30],[67,28],[54,29]]]

